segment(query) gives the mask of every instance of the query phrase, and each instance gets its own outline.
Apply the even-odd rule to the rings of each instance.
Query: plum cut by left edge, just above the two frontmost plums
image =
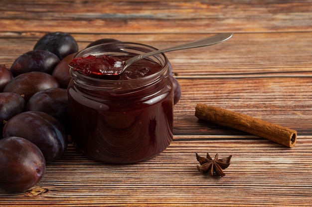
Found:
[[[4,125],[3,121],[9,120],[11,117],[24,112],[25,100],[17,93],[0,93],[0,130]],[[2,133],[0,134],[2,138]]]

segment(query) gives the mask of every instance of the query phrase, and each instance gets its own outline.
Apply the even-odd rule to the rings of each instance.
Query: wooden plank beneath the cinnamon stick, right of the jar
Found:
[[[238,133],[199,122],[194,116],[195,106],[204,103],[289,127],[301,135],[311,135],[310,77],[178,78],[178,81],[182,95],[174,106],[175,134]]]

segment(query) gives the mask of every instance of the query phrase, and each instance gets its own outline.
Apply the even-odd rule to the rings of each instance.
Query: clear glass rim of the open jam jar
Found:
[[[96,49],[96,48],[104,48],[105,46],[110,46],[110,45],[113,45],[113,46],[122,46],[122,45],[128,45],[127,47],[123,48],[123,47],[119,47],[118,49],[120,49],[122,52],[124,52],[125,54],[128,54],[126,49],[132,49],[133,48],[129,48],[131,45],[132,46],[135,46],[135,48],[137,48],[138,46],[140,47],[145,47],[147,49],[150,49],[150,51],[155,51],[157,50],[156,47],[153,47],[153,46],[150,46],[150,45],[147,45],[147,44],[142,44],[142,43],[136,43],[136,42],[108,42],[108,43],[103,43],[103,44],[97,44],[97,45],[93,45],[91,47],[87,47],[87,48],[84,48],[82,50],[80,50],[74,57],[80,57],[83,53],[87,52],[87,51],[92,51],[93,49]],[[112,51],[112,50],[103,50],[102,52],[118,52],[118,51]],[[138,51],[140,52],[140,51]],[[92,55],[92,54],[95,54],[96,52],[90,52],[90,53],[85,53],[84,55],[82,56],[87,56],[87,55]],[[99,53],[99,52],[98,52]],[[145,52],[142,52],[142,53],[145,53]],[[135,55],[139,55],[138,53],[136,53]],[[154,57],[154,59],[152,59]],[[158,57],[158,58],[157,58]],[[154,78],[154,77],[157,77],[159,76],[160,74],[162,74],[164,71],[163,69],[164,68],[168,68],[167,65],[168,65],[168,58],[167,56],[164,54],[164,53],[159,53],[159,54],[156,54],[156,55],[152,55],[150,57],[147,57],[147,59],[150,59],[152,61],[155,60],[155,58],[158,60],[157,63],[159,63],[161,66],[162,66],[162,69],[157,71],[156,73],[153,73],[151,75],[148,75],[148,76],[144,76],[144,77],[138,77],[138,78],[135,78],[135,79],[128,79],[128,80],[108,80],[108,79],[101,79],[101,78],[95,78],[95,77],[90,77],[90,76],[86,76],[86,75],[83,75],[81,74],[80,72],[78,71],[74,71],[72,68],[72,66],[69,66],[70,67],[70,74],[72,77],[80,77],[80,78],[84,78],[86,80],[91,80],[91,81],[96,81],[96,82],[103,82],[103,83],[116,83],[116,82],[120,82],[120,83],[126,83],[126,82],[132,82],[132,81],[144,81],[146,79],[150,79],[150,78]],[[159,58],[162,59],[163,62],[161,62],[159,60]],[[156,61],[155,61],[156,62]]]

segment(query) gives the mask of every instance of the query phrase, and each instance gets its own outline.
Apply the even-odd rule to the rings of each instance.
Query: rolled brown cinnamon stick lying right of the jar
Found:
[[[296,144],[297,131],[248,115],[205,104],[197,104],[195,116],[199,119],[238,129],[290,148]]]

